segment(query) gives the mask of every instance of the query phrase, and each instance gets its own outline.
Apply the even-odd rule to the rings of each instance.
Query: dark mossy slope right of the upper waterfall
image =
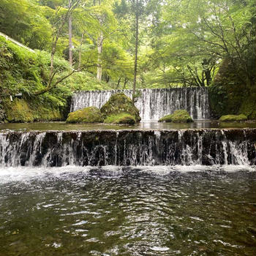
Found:
[[[245,82],[244,73],[236,63],[225,59],[209,87],[211,113],[216,118],[228,114],[245,114],[249,119],[256,119],[255,81]]]

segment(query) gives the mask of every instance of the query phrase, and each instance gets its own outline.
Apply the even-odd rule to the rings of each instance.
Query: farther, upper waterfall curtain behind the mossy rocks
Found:
[[[91,106],[101,108],[117,92],[121,90],[80,91],[72,97],[70,112]],[[122,92],[132,97],[132,90]],[[135,105],[142,120],[158,120],[178,109],[186,109],[193,119],[210,118],[208,89],[203,87],[140,89]]]

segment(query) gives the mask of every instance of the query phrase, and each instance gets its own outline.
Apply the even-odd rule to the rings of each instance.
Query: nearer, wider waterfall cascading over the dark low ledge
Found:
[[[255,165],[256,129],[0,133],[0,166]]]

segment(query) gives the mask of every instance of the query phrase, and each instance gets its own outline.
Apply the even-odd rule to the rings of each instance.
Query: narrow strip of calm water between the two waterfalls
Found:
[[[1,129],[27,130],[91,130],[91,129],[189,129],[189,128],[256,128],[256,122],[225,123],[212,120],[200,120],[189,124],[158,123],[142,121],[133,126],[110,124],[66,124],[65,122],[0,124]]]

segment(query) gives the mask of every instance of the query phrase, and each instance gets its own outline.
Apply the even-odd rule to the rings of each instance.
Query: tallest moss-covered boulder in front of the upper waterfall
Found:
[[[136,122],[140,121],[140,113],[138,108],[136,108],[132,100],[123,93],[113,94],[108,102],[102,106],[100,111],[105,118],[121,113],[128,113],[130,116],[135,118]]]

